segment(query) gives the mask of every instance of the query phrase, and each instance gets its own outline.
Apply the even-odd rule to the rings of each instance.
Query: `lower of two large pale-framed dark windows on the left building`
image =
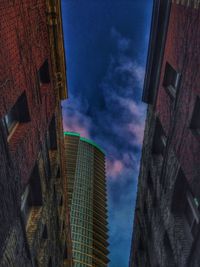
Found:
[[[42,206],[42,189],[40,183],[39,170],[37,165],[34,167],[30,182],[26,186],[24,193],[21,197],[21,212],[25,222],[27,224],[30,212],[34,207]]]

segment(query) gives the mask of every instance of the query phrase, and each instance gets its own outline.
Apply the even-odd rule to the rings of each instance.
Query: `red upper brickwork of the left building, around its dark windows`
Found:
[[[44,138],[55,109],[52,81],[39,88],[42,102],[37,97],[37,71],[50,57],[45,3],[44,0],[0,3],[0,117],[25,90],[31,119],[20,125],[9,141],[12,161],[23,182],[30,176],[39,140]]]

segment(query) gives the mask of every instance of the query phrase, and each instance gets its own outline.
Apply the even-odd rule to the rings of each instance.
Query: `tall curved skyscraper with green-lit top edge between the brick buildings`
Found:
[[[65,132],[68,201],[75,267],[107,266],[105,155],[94,142]]]

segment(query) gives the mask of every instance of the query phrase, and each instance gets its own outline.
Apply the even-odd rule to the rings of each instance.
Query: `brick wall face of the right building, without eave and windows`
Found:
[[[184,207],[186,194],[181,203],[177,193],[184,192],[184,183],[200,196],[200,138],[190,128],[200,95],[200,10],[192,2],[171,6],[157,99],[147,112],[130,267],[197,267],[200,262],[199,231],[192,236],[185,215],[173,211],[179,202]],[[163,86],[166,62],[181,73],[174,99]],[[152,150],[156,119],[167,136],[161,157]],[[185,182],[176,186],[180,170]]]

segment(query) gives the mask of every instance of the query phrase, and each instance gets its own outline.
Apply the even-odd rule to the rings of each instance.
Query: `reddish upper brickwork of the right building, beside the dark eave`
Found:
[[[194,136],[189,124],[196,96],[200,95],[199,44],[200,11],[172,4],[156,113],[194,191],[195,185],[200,185],[200,139]],[[162,86],[166,61],[181,73],[175,100]]]

